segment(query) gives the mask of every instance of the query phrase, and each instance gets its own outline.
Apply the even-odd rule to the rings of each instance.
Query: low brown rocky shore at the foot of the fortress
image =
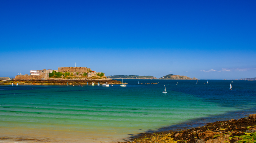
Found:
[[[105,84],[106,82],[110,85],[116,85],[116,84],[122,84],[121,81],[117,80],[111,80],[111,79],[87,79],[87,78],[78,78],[78,79],[56,79],[56,78],[49,78],[47,80],[14,80],[10,82],[6,82],[3,85],[10,85],[10,84],[16,84],[19,85],[67,85],[67,82],[69,82],[69,85],[85,85],[87,84]]]

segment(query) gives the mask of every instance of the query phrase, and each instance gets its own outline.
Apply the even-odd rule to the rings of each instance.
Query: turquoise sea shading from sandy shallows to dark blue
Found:
[[[123,82],[127,87],[1,85],[0,136],[105,143],[256,113],[256,81]]]

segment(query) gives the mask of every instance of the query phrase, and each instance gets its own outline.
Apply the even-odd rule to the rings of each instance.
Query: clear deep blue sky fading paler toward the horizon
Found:
[[[255,0],[1,0],[0,76],[256,77]]]

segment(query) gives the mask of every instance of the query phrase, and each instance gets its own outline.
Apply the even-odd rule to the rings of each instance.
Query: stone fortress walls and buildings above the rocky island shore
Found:
[[[58,70],[30,70],[30,75],[17,75],[15,80],[46,80],[49,78],[49,73],[53,71],[56,72],[72,72],[73,75],[76,75],[77,72],[79,75],[83,75],[83,73],[87,73],[87,77],[97,76],[96,71],[92,71],[91,68],[87,67],[58,67]],[[99,72],[101,73],[101,72]],[[104,73],[105,76],[105,73]]]

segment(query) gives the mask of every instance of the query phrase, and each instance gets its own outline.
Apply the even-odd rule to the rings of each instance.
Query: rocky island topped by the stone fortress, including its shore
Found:
[[[108,79],[103,72],[92,71],[87,67],[59,67],[58,70],[31,70],[30,75],[17,75],[13,80],[2,84],[24,85],[69,85],[72,84],[122,84],[121,81]]]

